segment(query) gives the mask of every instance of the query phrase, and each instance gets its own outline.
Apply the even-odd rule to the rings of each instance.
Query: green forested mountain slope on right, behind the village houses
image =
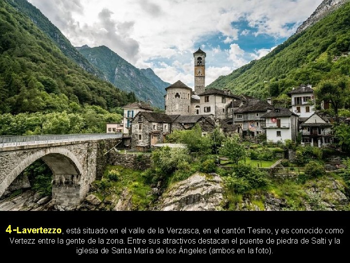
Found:
[[[350,2],[339,5],[337,10],[291,36],[266,56],[220,76],[207,88],[266,98],[303,83],[316,86],[334,73],[349,76],[349,14]]]

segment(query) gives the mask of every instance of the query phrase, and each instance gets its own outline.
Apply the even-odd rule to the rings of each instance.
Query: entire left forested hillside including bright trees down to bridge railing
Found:
[[[118,121],[118,107],[135,99],[84,71],[28,16],[0,1],[0,135],[101,132],[105,117]]]

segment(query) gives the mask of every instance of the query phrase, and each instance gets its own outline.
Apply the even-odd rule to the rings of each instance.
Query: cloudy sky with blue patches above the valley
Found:
[[[193,55],[206,52],[206,85],[268,54],[322,0],[29,0],[73,46],[105,45],[164,81],[194,86]]]

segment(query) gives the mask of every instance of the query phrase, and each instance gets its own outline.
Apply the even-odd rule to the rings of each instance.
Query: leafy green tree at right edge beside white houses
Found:
[[[349,100],[349,93],[349,78],[339,75],[321,81],[315,90],[315,94],[319,100],[329,101],[332,104],[335,120],[338,125],[338,110]]]

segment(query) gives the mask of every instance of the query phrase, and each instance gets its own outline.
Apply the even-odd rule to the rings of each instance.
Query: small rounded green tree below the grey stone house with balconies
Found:
[[[241,143],[238,134],[234,134],[232,137],[224,140],[219,148],[219,152],[235,164],[238,164],[238,161],[245,157],[245,147]]]

